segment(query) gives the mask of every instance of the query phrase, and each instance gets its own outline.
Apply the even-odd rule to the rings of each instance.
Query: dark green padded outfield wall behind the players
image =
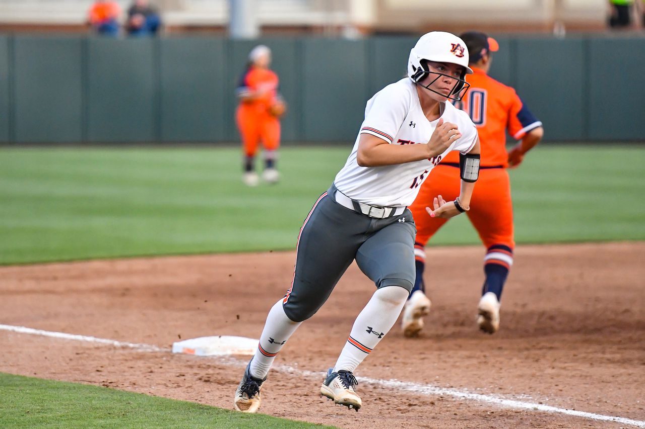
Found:
[[[417,37],[108,39],[0,34],[0,142],[231,142],[235,86],[257,43],[289,111],[285,142],[348,142],[366,100],[406,72]],[[491,75],[547,141],[645,136],[645,37],[497,38]]]

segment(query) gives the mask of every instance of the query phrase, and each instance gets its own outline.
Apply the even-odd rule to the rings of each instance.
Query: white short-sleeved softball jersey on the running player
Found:
[[[361,167],[356,162],[362,133],[389,144],[428,144],[439,119],[430,122],[421,109],[416,84],[408,77],[377,92],[365,107],[365,120],[352,153],[336,175],[335,186],[344,195],[370,205],[404,207],[412,204],[428,173],[453,150],[468,153],[477,140],[477,129],[468,114],[444,103],[444,122],[457,124],[461,137],[444,153],[421,161],[382,167]]]

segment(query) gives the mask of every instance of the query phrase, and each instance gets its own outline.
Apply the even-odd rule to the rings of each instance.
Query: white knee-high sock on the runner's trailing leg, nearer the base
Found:
[[[255,350],[249,372],[253,377],[264,378],[268,374],[275,355],[283,348],[286,340],[303,322],[295,322],[284,314],[283,298],[280,298],[269,311],[264,323],[260,342]]]

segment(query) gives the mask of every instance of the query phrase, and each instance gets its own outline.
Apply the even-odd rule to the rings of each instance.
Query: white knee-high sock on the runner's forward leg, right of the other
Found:
[[[386,286],[374,292],[370,302],[356,318],[334,371],[353,372],[359,366],[396,323],[408,293],[407,289],[399,286]]]

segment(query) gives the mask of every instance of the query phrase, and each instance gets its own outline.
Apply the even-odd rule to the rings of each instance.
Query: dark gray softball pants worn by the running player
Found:
[[[377,288],[415,280],[412,213],[378,219],[335,202],[332,185],[313,205],[298,236],[292,286],[283,300],[286,316],[306,320],[320,309],[353,260]]]

